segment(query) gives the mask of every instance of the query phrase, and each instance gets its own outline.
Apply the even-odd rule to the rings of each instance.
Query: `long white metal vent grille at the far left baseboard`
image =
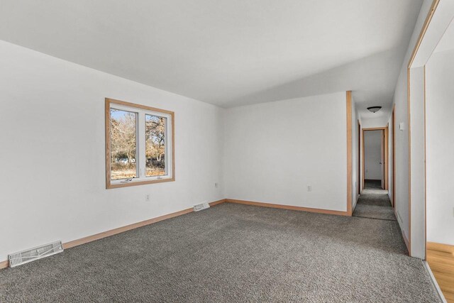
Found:
[[[62,253],[62,251],[62,241],[57,241],[43,246],[18,251],[17,253],[11,253],[11,255],[8,255],[9,267],[13,268],[17,265],[48,257],[49,255],[55,255],[55,253]]]

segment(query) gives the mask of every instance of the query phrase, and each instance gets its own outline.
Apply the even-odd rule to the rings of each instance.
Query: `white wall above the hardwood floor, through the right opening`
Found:
[[[426,65],[427,241],[454,245],[454,50]]]

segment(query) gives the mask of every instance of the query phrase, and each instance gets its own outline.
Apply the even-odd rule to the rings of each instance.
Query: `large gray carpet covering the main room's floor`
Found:
[[[395,221],[240,204],[0,270],[0,302],[439,302]]]

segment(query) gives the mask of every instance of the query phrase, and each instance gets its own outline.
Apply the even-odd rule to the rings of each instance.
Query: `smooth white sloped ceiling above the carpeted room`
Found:
[[[365,114],[421,2],[2,0],[0,39],[223,107],[353,89]]]

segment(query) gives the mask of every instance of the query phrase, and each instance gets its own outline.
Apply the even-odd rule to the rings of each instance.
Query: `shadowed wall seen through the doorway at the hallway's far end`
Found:
[[[364,132],[365,179],[382,180],[382,133],[383,131]]]

